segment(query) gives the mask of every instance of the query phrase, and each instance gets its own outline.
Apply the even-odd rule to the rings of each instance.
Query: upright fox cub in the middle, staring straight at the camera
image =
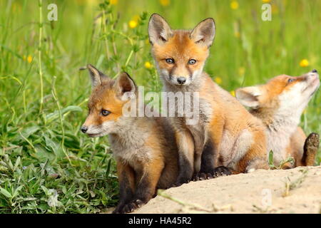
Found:
[[[267,169],[263,124],[203,72],[215,36],[214,20],[205,19],[192,31],[173,30],[163,17],[153,14],[148,34],[165,92],[199,96],[198,123],[170,118],[179,154],[176,185],[188,182],[195,173],[203,179],[230,170]]]

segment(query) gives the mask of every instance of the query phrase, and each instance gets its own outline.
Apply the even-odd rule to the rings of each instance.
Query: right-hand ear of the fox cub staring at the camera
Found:
[[[195,43],[205,44],[210,47],[215,37],[215,22],[214,19],[205,19],[193,28],[190,32],[190,39]]]

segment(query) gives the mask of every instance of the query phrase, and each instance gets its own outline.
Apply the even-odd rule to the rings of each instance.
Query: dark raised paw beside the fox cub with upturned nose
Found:
[[[302,156],[302,164],[305,166],[315,165],[315,156],[319,148],[320,137],[317,133],[311,133],[305,140],[304,152]]]

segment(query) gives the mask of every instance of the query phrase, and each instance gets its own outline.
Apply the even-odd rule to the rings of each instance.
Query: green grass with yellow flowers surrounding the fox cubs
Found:
[[[238,0],[235,10],[228,0],[102,2],[0,1],[0,213],[93,213],[117,203],[107,139],[78,130],[91,90],[88,73],[78,68],[91,63],[110,76],[128,71],[146,90],[161,90],[156,69],[144,66],[154,64],[147,41],[153,12],[173,28],[215,19],[205,71],[226,90],[321,71],[321,1],[272,0],[272,21],[261,20],[260,0]],[[47,20],[51,3],[58,21]],[[133,19],[138,26],[129,28]],[[307,67],[299,64],[304,58]],[[319,92],[302,115],[305,133],[321,133],[320,101]]]

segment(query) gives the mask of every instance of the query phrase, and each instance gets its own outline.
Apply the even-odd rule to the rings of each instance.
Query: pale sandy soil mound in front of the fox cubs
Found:
[[[320,213],[321,166],[257,170],[161,192],[136,213]]]

